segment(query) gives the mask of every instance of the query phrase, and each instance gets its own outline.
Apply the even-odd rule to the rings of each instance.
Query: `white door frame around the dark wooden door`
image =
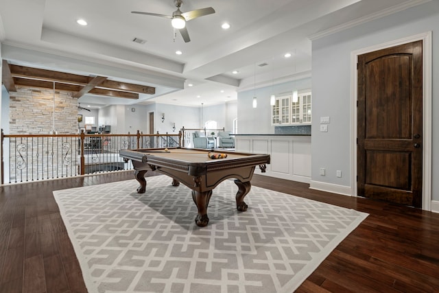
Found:
[[[423,205],[431,211],[431,32],[392,40],[351,52],[351,187],[357,196],[357,60],[358,56],[416,40],[423,41]]]

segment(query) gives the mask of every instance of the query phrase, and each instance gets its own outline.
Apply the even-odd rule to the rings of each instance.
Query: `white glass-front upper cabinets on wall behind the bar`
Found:
[[[272,106],[272,125],[311,124],[311,91],[300,91],[297,102],[292,95],[276,97]]]

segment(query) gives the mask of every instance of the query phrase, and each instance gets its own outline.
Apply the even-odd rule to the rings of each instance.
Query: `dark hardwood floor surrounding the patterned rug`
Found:
[[[132,179],[116,172],[0,189],[0,292],[86,292],[52,191]],[[296,292],[439,292],[439,214],[254,175],[252,185],[370,215]]]

